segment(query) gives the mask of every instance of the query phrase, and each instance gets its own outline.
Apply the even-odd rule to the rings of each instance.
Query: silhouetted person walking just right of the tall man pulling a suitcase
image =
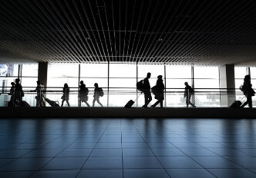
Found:
[[[156,107],[157,104],[160,104],[160,107],[163,107],[163,91],[164,91],[164,84],[163,84],[163,76],[158,75],[157,76],[157,84],[152,87],[151,91],[153,94],[155,94],[155,99],[157,99],[157,102],[153,104],[151,107]]]

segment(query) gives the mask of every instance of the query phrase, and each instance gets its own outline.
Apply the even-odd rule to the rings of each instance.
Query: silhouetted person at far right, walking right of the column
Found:
[[[252,89],[251,76],[249,74],[244,76],[244,84],[242,86],[242,90],[247,100],[244,102],[244,104],[241,105],[241,107],[244,107],[246,104],[248,104],[248,107],[251,108],[252,107],[251,97],[254,96],[255,91]]]

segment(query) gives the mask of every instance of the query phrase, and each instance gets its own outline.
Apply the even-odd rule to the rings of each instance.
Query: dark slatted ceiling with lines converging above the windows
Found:
[[[0,63],[256,66],[254,0],[2,0],[0,25]]]

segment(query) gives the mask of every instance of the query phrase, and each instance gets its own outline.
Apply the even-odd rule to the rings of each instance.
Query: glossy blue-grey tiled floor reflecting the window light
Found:
[[[256,120],[0,120],[1,178],[253,178]]]

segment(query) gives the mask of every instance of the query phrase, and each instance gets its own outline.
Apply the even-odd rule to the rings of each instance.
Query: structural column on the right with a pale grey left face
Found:
[[[219,68],[221,107],[230,106],[236,99],[234,85],[234,64],[226,64]],[[223,89],[222,89],[223,88]]]

